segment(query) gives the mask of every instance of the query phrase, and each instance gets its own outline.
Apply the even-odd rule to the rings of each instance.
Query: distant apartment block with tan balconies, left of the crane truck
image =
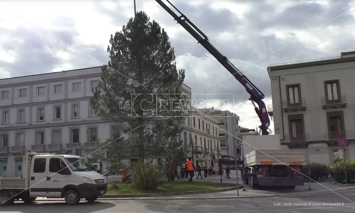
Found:
[[[237,156],[237,148],[240,147],[239,116],[228,110],[210,108],[204,111],[218,120],[221,155],[239,158]]]

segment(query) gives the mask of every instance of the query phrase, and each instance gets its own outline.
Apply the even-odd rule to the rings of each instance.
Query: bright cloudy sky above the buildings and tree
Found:
[[[267,65],[355,49],[354,0],[171,1],[264,92],[267,104]],[[154,0],[136,2],[137,10],[168,32],[193,93],[234,94],[240,124],[260,125],[244,87],[213,56]],[[1,1],[0,78],[105,64],[110,34],[120,31],[133,14],[133,0]]]

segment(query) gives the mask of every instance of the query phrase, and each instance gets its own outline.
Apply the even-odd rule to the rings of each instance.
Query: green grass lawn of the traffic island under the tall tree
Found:
[[[117,185],[117,188],[113,188],[113,184]],[[196,181],[189,183],[188,181],[163,181],[158,189],[154,193],[164,192],[186,192],[186,191],[199,191],[199,190],[213,190],[223,189],[229,187],[235,187],[236,184],[231,183],[216,183],[216,182],[202,182]],[[153,193],[152,191],[141,191],[135,189],[132,184],[123,182],[110,182],[108,183],[107,194],[140,194],[140,193]]]

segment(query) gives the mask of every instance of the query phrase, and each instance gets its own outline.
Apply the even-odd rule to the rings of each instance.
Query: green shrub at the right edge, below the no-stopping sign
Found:
[[[330,173],[335,181],[344,183],[345,181],[345,168],[348,183],[355,180],[355,160],[339,161],[329,166]]]

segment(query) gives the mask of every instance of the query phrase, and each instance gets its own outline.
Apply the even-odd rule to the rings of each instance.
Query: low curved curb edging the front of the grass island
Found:
[[[166,193],[142,193],[142,194],[119,194],[119,195],[102,195],[99,198],[137,198],[137,197],[162,197],[162,196],[175,196],[175,195],[196,195],[196,194],[207,194],[215,192],[227,192],[236,189],[242,189],[243,186],[229,187],[223,189],[214,190],[199,190],[199,191],[187,191],[187,192],[166,192]]]

